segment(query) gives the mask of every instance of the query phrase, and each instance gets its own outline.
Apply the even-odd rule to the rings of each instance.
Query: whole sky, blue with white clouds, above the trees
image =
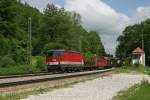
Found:
[[[128,25],[150,18],[150,0],[22,0],[41,12],[48,3],[81,15],[87,30],[99,32],[107,53],[115,54],[117,37]]]

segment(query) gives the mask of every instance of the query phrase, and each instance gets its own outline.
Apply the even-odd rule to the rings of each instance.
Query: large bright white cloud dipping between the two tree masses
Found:
[[[66,0],[65,9],[79,13],[87,30],[100,32],[106,51],[114,54],[116,38],[128,25],[128,16],[116,12],[101,0]]]

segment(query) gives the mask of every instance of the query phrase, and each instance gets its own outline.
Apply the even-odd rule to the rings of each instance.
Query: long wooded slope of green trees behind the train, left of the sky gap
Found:
[[[96,31],[86,31],[80,15],[48,4],[44,12],[21,0],[0,0],[0,66],[27,63],[28,19],[32,19],[32,55],[67,49],[87,57],[105,55]]]

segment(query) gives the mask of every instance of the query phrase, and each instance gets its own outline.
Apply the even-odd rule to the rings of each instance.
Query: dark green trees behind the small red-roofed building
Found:
[[[132,51],[142,48],[142,39],[144,40],[144,51],[146,55],[146,65],[150,65],[150,19],[141,23],[128,26],[118,37],[119,45],[116,50],[116,56],[131,64]]]

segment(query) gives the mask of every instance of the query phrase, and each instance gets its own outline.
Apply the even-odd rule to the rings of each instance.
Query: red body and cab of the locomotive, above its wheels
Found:
[[[47,56],[48,65],[83,65],[83,55],[65,50],[50,50]],[[49,55],[47,54],[47,55]]]

